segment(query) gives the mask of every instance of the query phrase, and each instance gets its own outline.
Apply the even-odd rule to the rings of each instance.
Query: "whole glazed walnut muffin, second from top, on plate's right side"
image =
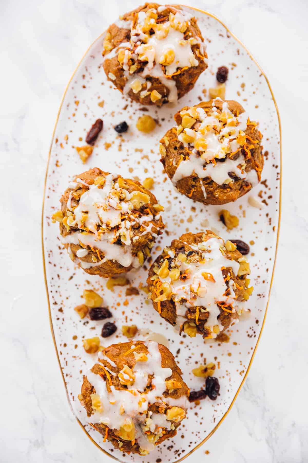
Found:
[[[185,106],[160,140],[161,162],[175,188],[204,204],[225,204],[261,179],[262,135],[236,101]]]

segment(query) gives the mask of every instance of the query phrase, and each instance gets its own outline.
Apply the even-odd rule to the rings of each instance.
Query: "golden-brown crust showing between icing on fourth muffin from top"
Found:
[[[196,290],[192,289],[195,284],[194,275],[197,271],[199,271],[201,262],[204,262],[202,250],[206,249],[206,246],[201,246],[201,249],[198,249],[198,244],[206,243],[210,238],[219,240],[219,246],[221,248],[219,252],[221,252],[226,258],[224,260],[225,265],[221,268],[219,267],[218,270],[222,273],[224,280],[224,294],[222,291],[221,295],[228,296],[222,297],[221,300],[217,300],[216,305],[218,310],[216,310],[218,315],[212,326],[208,326],[208,319],[213,307],[208,308],[199,305],[202,298],[198,299],[197,294],[201,295],[199,293],[199,287],[201,286],[202,289],[202,283],[199,284],[199,287],[196,288]],[[226,246],[227,248],[234,250],[230,251],[226,249]],[[206,250],[206,253],[208,252],[209,250]],[[185,255],[185,257],[182,257],[181,255]],[[205,257],[207,255],[208,254],[205,254]],[[213,258],[214,264],[216,258],[217,257]],[[230,262],[229,267],[227,259]],[[243,271],[239,272],[241,275],[235,275],[234,270],[231,267],[231,263],[233,264],[234,261],[238,262],[239,260],[242,260],[240,269],[243,269]],[[163,274],[160,269],[165,261],[168,262],[168,265],[165,273]],[[181,266],[183,266],[183,262],[185,262],[185,266],[188,270],[181,268]],[[171,271],[180,268],[181,271],[178,271],[176,280],[172,281],[172,278],[170,277]],[[208,271],[205,271],[204,278],[208,280],[207,282],[204,282],[205,292],[207,294],[211,294],[211,291],[215,291],[215,288],[211,285],[212,283],[217,283],[215,282],[213,275],[211,275],[211,271],[211,267]],[[232,245],[232,243],[230,244],[230,242],[226,242],[225,244],[222,238],[219,238],[215,233],[211,232],[211,230],[206,230],[205,232],[196,234],[185,233],[179,239],[174,239],[170,246],[165,247],[163,253],[157,257],[149,269],[147,285],[154,309],[171,325],[176,325],[179,328],[180,334],[184,331],[188,334],[188,336],[192,337],[194,337],[196,333],[199,333],[202,334],[204,338],[213,338],[216,337],[219,332],[223,332],[232,322],[234,322],[235,319],[238,318],[242,309],[231,309],[232,304],[235,305],[237,302],[247,300],[249,295],[252,293],[253,288],[248,288],[249,280],[247,279],[247,276],[249,273],[249,264],[246,262],[246,258],[243,257],[238,250],[236,250],[236,246],[234,244]],[[215,278],[217,277],[215,276]],[[183,282],[183,285],[184,283],[186,285],[190,285],[190,293],[188,292],[188,294],[182,294],[182,297],[177,297],[175,283],[180,281]],[[202,278],[201,281],[203,281]],[[168,285],[166,288],[162,287],[162,282],[169,282],[170,288],[168,288]],[[234,300],[229,299],[229,296],[231,295],[229,282],[232,282],[232,294],[234,292]],[[183,297],[185,295],[186,299]],[[175,301],[176,298],[178,302]],[[186,304],[185,301],[187,300],[190,300],[191,304]],[[180,306],[177,306],[178,303]],[[182,307],[182,309],[180,308],[181,316],[179,319],[177,307]],[[215,326],[217,326],[217,328],[215,328]],[[187,330],[186,328],[190,329]]]

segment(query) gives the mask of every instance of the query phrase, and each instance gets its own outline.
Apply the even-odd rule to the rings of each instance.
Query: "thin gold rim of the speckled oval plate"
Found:
[[[276,267],[276,259],[277,259],[277,250],[278,250],[278,241],[279,241],[279,233],[280,233],[280,220],[281,220],[281,192],[282,192],[282,188],[281,188],[281,184],[282,184],[282,144],[281,144],[281,120],[280,120],[280,115],[279,115],[279,111],[278,111],[278,106],[277,106],[277,102],[275,100],[275,97],[274,97],[274,94],[272,92],[272,87],[268,81],[268,78],[266,77],[266,74],[264,73],[263,69],[261,68],[260,64],[254,59],[254,57],[252,56],[252,54],[248,51],[248,49],[246,48],[246,46],[242,43],[242,41],[236,37],[235,34],[233,34],[233,32],[231,32],[229,30],[229,28],[220,20],[217,18],[217,16],[215,16],[214,14],[212,13],[208,13],[207,11],[204,11],[204,10],[201,10],[199,8],[194,8],[193,6],[187,6],[187,5],[179,5],[179,6],[182,6],[184,8],[189,8],[191,10],[194,10],[194,11],[198,11],[199,13],[204,13],[206,14],[207,16],[210,16],[211,18],[214,18],[216,19],[225,29],[226,31],[228,31],[228,33],[240,44],[242,45],[242,47],[244,48],[244,50],[246,50],[246,52],[248,53],[248,55],[250,56],[250,58],[254,61],[254,63],[257,65],[257,67],[260,69],[260,72],[261,74],[264,76],[265,80],[266,80],[266,83],[268,85],[268,88],[271,92],[271,95],[272,95],[272,99],[273,99],[273,102],[274,102],[274,105],[275,105],[275,109],[276,109],[276,113],[277,113],[277,117],[278,117],[278,125],[279,125],[279,144],[280,144],[280,179],[279,179],[279,213],[278,213],[278,229],[277,229],[277,239],[276,239],[276,249],[275,249],[275,258],[274,258],[274,264],[273,264],[273,270],[272,270],[272,278],[271,278],[271,283],[270,283],[270,288],[269,288],[269,292],[268,292],[268,299],[267,299],[267,304],[266,304],[266,310],[265,310],[265,314],[264,314],[264,318],[263,318],[263,323],[262,323],[262,326],[261,326],[261,330],[260,330],[260,334],[259,334],[259,337],[257,339],[257,342],[256,342],[256,345],[254,347],[254,351],[252,353],[252,356],[251,356],[251,359],[250,359],[250,362],[248,364],[248,367],[247,367],[247,370],[246,370],[246,373],[242,379],[242,382],[239,386],[239,388],[237,389],[236,391],[236,394],[233,398],[233,400],[231,401],[229,407],[228,407],[228,410],[224,413],[223,417],[218,421],[217,425],[211,430],[211,432],[198,444],[196,445],[196,447],[194,447],[192,450],[190,450],[187,455],[185,455],[184,457],[181,457],[179,460],[175,460],[174,463],[180,463],[182,462],[183,460],[185,460],[185,458],[189,457],[195,450],[199,449],[199,447],[201,447],[201,445],[203,445],[213,434],[214,432],[218,429],[218,427],[222,424],[223,420],[226,418],[226,416],[228,415],[229,411],[231,410],[231,408],[233,407],[235,401],[236,401],[236,398],[238,396],[238,394],[240,393],[240,390],[242,389],[242,386],[248,376],[248,373],[249,373],[249,370],[250,370],[250,367],[252,365],[252,362],[254,360],[254,356],[255,356],[255,353],[256,353],[256,350],[258,348],[258,345],[259,345],[259,341],[260,341],[260,338],[261,338],[261,334],[263,332],[263,328],[264,328],[264,324],[265,324],[265,320],[266,320],[266,314],[267,314],[267,309],[268,309],[268,305],[269,305],[269,301],[270,301],[270,296],[271,296],[271,291],[272,291],[272,283],[273,283],[273,278],[274,278],[274,273],[275,273],[275,267]],[[43,202],[42,202],[42,219],[41,219],[41,235],[42,235],[42,258],[43,258],[43,271],[44,271],[44,281],[45,281],[45,288],[46,288],[46,294],[47,294],[47,302],[48,302],[48,313],[49,313],[49,325],[50,325],[50,330],[51,330],[51,334],[52,334],[52,338],[53,338],[53,341],[54,341],[54,348],[55,348],[55,351],[56,351],[56,356],[57,356],[57,360],[58,360],[58,363],[59,363],[59,367],[60,367],[60,372],[61,372],[61,375],[62,375],[62,379],[63,379],[63,382],[64,382],[64,387],[65,387],[65,391],[66,391],[66,398],[67,398],[67,401],[69,403],[69,406],[72,410],[72,413],[73,415],[75,416],[78,424],[81,426],[81,428],[83,429],[83,431],[86,433],[86,435],[88,436],[88,438],[90,438],[90,440],[93,442],[93,444],[95,444],[97,446],[98,449],[100,449],[101,451],[103,451],[105,453],[105,455],[108,455],[109,457],[113,458],[115,461],[118,461],[121,463],[121,460],[119,460],[117,457],[115,457],[114,455],[111,455],[107,450],[104,450],[99,444],[97,444],[97,442],[95,442],[95,440],[91,437],[91,435],[87,432],[87,430],[85,429],[84,425],[82,425],[81,421],[79,420],[79,418],[76,416],[73,408],[72,408],[72,404],[70,402],[70,399],[69,399],[69,394],[68,394],[68,391],[67,391],[67,388],[66,388],[66,382],[65,382],[65,378],[64,378],[64,375],[63,375],[63,371],[62,371],[62,368],[61,368],[61,363],[60,363],[60,357],[59,357],[59,353],[58,353],[58,349],[57,349],[57,345],[56,345],[56,341],[55,341],[55,336],[54,336],[54,327],[53,327],[53,323],[52,323],[52,317],[51,317],[51,310],[50,310],[50,300],[49,300],[49,293],[48,293],[48,283],[47,283],[47,276],[46,276],[46,263],[45,263],[45,253],[44,253],[44,237],[43,237],[43,220],[44,220],[44,204],[45,204],[45,193],[46,193],[46,183],[47,183],[47,175],[48,175],[48,167],[49,167],[49,161],[50,161],[50,155],[51,155],[51,149],[52,149],[52,145],[53,145],[53,142],[54,142],[54,134],[55,134],[55,130],[56,130],[56,126],[58,124],[58,120],[59,120],[59,116],[60,116],[60,112],[61,112],[61,109],[62,109],[62,105],[63,105],[63,101],[64,101],[64,98],[65,98],[65,95],[66,95],[66,92],[67,92],[67,89],[69,88],[69,85],[74,77],[74,75],[76,74],[76,71],[77,69],[79,68],[79,65],[80,63],[83,61],[83,59],[85,58],[85,56],[87,55],[88,51],[92,48],[92,46],[103,36],[104,32],[102,34],[100,34],[99,37],[97,37],[94,42],[89,46],[89,48],[85,51],[85,54],[82,56],[82,58],[80,59],[77,67],[75,68],[70,80],[68,81],[67,83],[67,86],[66,86],[66,89],[64,91],[64,94],[62,96],[62,99],[61,99],[61,102],[60,102],[60,107],[59,107],[59,111],[57,113],[57,118],[56,118],[56,121],[55,121],[55,125],[54,125],[54,131],[53,131],[53,134],[52,134],[52,138],[51,138],[51,143],[50,143],[50,148],[49,148],[49,153],[48,153],[48,160],[47,160],[47,167],[46,167],[46,173],[45,173],[45,180],[44,180],[44,190],[43,190]]]

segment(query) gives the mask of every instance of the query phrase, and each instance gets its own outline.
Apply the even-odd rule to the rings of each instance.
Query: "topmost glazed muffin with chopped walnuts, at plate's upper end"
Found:
[[[103,46],[108,80],[143,105],[176,101],[207,67],[197,20],[180,6],[146,3],[124,14]]]

